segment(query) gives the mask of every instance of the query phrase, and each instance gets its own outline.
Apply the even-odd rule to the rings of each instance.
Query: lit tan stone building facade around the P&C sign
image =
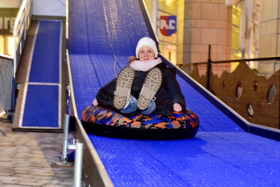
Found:
[[[240,49],[242,12],[245,15],[243,1],[257,4],[259,11],[259,27],[256,30],[259,36],[254,38],[254,25],[257,24],[250,22],[245,53]],[[280,55],[279,0],[242,0],[236,5],[226,5],[225,0],[145,0],[145,4],[160,42],[160,51],[174,64],[207,62],[209,45],[212,61]],[[176,32],[171,36],[163,36],[160,32],[160,17],[164,15],[177,17]],[[259,50],[254,45],[256,39]],[[266,74],[279,69],[277,62],[259,64],[252,61],[248,65]],[[235,68],[234,64],[225,65],[219,67],[217,73]]]

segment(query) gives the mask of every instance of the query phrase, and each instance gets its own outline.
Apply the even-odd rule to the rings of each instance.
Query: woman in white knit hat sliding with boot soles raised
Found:
[[[101,88],[93,104],[113,109],[125,117],[138,113],[172,116],[185,110],[185,98],[172,69],[158,58],[155,41],[143,37],[138,41],[136,57],[130,67]]]

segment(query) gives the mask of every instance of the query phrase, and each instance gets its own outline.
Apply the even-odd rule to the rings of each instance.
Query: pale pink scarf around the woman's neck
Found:
[[[149,71],[159,63],[161,63],[160,58],[156,58],[154,60],[149,60],[146,62],[141,62],[140,60],[134,60],[130,63],[130,67],[133,68],[135,71]]]

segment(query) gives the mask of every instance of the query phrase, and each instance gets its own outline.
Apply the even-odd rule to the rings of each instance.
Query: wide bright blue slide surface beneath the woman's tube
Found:
[[[69,1],[69,61],[79,117],[115,78],[115,70],[118,74],[127,66],[144,36],[150,34],[138,1]],[[186,77],[177,79],[187,108],[200,119],[194,138],[127,140],[88,134],[113,184],[279,186],[280,142],[245,132]]]

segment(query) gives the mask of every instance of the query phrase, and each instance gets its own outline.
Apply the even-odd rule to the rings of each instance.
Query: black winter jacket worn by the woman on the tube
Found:
[[[158,92],[155,94],[157,99],[155,99],[156,109],[153,114],[172,116],[174,103],[179,103],[182,106],[182,111],[184,111],[186,108],[185,98],[175,78],[175,71],[172,71],[171,68],[167,68],[165,63],[160,63],[155,67],[158,67],[162,72],[162,82]],[[139,98],[147,73],[148,72],[144,71],[135,71],[134,81],[131,87],[131,95],[136,99]],[[132,117],[139,114],[139,110],[124,114],[115,108],[113,99],[116,90],[116,80],[117,79],[115,78],[99,90],[96,96],[98,106],[113,109],[125,117]]]

